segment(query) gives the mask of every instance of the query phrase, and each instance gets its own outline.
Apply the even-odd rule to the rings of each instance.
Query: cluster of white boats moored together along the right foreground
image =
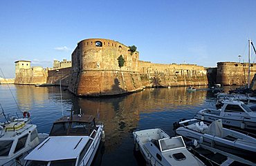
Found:
[[[179,136],[160,128],[134,131],[135,150],[147,165],[256,165],[256,112],[249,101],[253,98],[219,94],[217,109],[174,123]]]

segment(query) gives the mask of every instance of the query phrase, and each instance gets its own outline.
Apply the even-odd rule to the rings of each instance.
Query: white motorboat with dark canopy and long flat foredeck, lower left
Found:
[[[103,137],[103,124],[97,125],[93,116],[71,113],[53,123],[49,137],[26,156],[25,165],[91,165]]]

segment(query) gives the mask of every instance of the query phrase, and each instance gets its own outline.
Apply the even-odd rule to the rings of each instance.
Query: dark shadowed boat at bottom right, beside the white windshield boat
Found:
[[[188,150],[200,158],[206,165],[214,165],[214,166],[232,166],[232,165],[239,165],[239,166],[256,166],[255,163],[251,162],[250,160],[246,160],[239,156],[235,156],[233,154],[223,152],[222,150],[208,147],[203,144],[198,144],[197,141],[194,143],[188,143],[187,145]]]

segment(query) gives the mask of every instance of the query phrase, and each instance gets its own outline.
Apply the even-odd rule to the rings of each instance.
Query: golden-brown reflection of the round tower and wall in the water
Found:
[[[199,105],[205,101],[207,92],[188,93],[185,87],[145,89],[143,92],[116,98],[80,98],[73,101],[74,109],[84,114],[98,116],[104,123],[107,152],[118,147],[137,128],[140,113],[172,110],[183,105]]]

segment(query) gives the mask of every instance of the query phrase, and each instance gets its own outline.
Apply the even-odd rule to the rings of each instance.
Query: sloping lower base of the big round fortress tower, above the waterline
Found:
[[[68,89],[78,96],[105,96],[142,90],[140,75],[118,70],[73,73]]]

